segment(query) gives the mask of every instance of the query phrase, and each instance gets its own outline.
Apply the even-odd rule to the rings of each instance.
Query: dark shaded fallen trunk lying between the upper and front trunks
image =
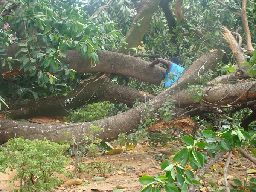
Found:
[[[85,82],[81,87],[70,92],[68,96],[30,99],[26,104],[20,103],[24,99],[13,100],[8,104],[10,107],[8,111],[15,119],[54,115],[68,116],[69,111],[92,102],[114,101],[133,105],[136,98],[140,98],[140,102],[146,102],[155,97],[134,88],[111,84],[110,81],[105,80],[106,78]]]

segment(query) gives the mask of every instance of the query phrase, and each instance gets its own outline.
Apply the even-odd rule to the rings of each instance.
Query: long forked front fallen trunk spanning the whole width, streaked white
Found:
[[[61,140],[70,140],[75,134],[81,138],[81,133],[88,133],[92,124],[102,126],[103,130],[96,134],[102,141],[110,141],[117,138],[120,133],[127,133],[136,130],[140,120],[146,116],[144,109],[146,106],[154,108],[156,112],[169,97],[175,102],[175,113],[180,116],[191,108],[198,107],[200,103],[194,103],[191,94],[186,93],[187,85],[199,84],[198,76],[214,68],[223,56],[222,50],[206,53],[195,61],[184,73],[182,78],[174,85],[163,91],[156,98],[150,100],[149,104],[142,104],[125,113],[109,117],[107,119],[95,122],[73,123],[69,125],[38,125],[35,123],[19,122],[1,118],[0,124],[0,143],[5,143],[13,137],[24,136],[27,139],[44,139],[60,142]],[[225,105],[244,105],[250,104],[256,99],[255,83],[241,82],[239,84],[227,84],[219,86],[207,86],[203,89],[203,94],[207,94],[202,99],[207,107],[225,106]],[[74,98],[75,100],[78,98]],[[63,105],[65,100],[62,100]],[[70,102],[69,104],[71,104]],[[69,105],[68,104],[68,105]],[[193,115],[191,113],[190,115]],[[66,138],[66,133],[69,138]]]

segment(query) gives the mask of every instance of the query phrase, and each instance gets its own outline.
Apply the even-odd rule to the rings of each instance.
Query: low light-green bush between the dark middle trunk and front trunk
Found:
[[[65,118],[68,120],[69,123],[104,119],[107,117],[111,107],[114,107],[114,104],[108,101],[88,104],[84,108],[75,110],[68,117]]]

